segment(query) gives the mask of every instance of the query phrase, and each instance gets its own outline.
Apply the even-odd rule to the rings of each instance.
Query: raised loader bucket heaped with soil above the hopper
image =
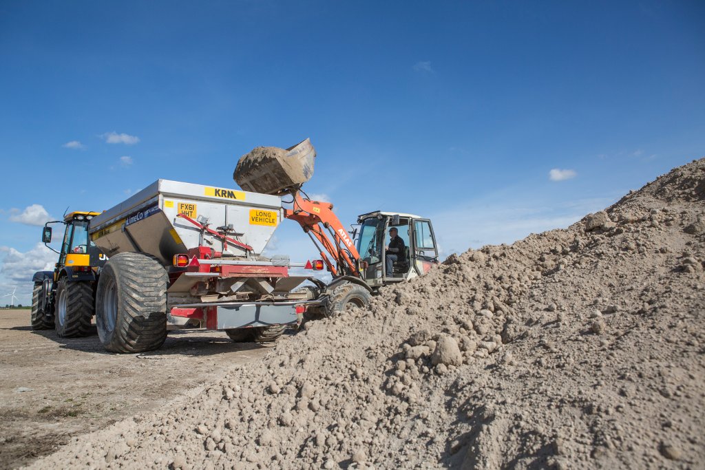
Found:
[[[309,139],[288,149],[257,147],[240,157],[233,179],[245,191],[286,194],[311,179],[315,158]]]

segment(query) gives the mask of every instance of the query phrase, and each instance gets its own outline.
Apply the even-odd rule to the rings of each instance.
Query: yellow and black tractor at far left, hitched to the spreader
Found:
[[[32,329],[56,328],[62,338],[85,336],[91,331],[95,287],[107,257],[88,237],[88,225],[99,212],[74,211],[63,221],[44,224],[42,242],[59,254],[54,271],[38,271],[32,281]],[[55,223],[63,223],[61,251],[49,246]],[[68,299],[71,298],[71,302]]]

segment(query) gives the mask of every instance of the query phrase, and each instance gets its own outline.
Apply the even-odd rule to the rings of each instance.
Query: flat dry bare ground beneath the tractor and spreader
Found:
[[[29,324],[29,310],[0,311],[0,469],[28,464],[73,435],[196,395],[230,366],[266,352],[209,331],[172,332],[158,351],[112,354],[97,335],[62,339]]]

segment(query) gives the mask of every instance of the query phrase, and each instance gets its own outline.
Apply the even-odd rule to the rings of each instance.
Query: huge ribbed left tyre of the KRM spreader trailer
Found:
[[[103,267],[96,292],[100,342],[112,352],[156,350],[166,340],[168,275],[154,256],[120,253]]]

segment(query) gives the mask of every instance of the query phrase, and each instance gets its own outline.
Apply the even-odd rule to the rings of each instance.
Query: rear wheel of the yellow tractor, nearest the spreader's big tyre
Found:
[[[54,328],[61,338],[80,338],[90,335],[93,317],[93,287],[87,282],[59,279],[56,286]]]

